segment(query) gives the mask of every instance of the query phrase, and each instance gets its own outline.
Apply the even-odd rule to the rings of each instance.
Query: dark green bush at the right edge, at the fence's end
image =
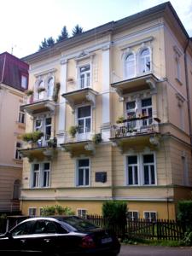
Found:
[[[186,225],[188,231],[192,231],[192,201],[178,201],[177,219]]]

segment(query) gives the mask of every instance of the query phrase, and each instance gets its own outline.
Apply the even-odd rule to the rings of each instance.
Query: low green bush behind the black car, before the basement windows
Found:
[[[61,207],[59,205],[51,207],[43,207],[42,216],[51,216],[51,215],[74,215],[74,212],[70,207]]]

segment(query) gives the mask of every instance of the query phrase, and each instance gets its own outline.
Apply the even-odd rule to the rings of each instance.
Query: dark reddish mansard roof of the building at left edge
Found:
[[[8,52],[0,54],[0,83],[6,84],[17,90],[21,88],[21,75],[28,79],[29,65]]]

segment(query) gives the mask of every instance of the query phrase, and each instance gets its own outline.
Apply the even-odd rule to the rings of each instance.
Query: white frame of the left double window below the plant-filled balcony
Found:
[[[44,164],[49,164],[49,170],[44,170]],[[34,165],[38,165],[38,170],[34,171]],[[48,185],[44,186],[44,171],[49,172],[49,181]],[[38,173],[38,177],[36,177],[36,185],[33,184],[34,173]],[[38,189],[38,188],[50,188],[50,172],[51,172],[51,165],[49,161],[44,162],[34,162],[31,166],[31,188]]]

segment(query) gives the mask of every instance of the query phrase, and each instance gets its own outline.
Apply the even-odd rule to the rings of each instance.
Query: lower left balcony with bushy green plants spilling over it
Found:
[[[29,161],[33,160],[51,160],[57,152],[57,140],[41,137],[37,142],[27,141],[22,143],[22,148],[19,150],[23,157],[27,157]]]

